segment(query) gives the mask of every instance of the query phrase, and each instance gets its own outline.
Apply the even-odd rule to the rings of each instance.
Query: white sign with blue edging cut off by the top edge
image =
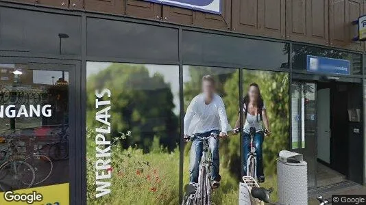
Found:
[[[154,3],[174,5],[191,10],[221,14],[221,0],[145,0]]]

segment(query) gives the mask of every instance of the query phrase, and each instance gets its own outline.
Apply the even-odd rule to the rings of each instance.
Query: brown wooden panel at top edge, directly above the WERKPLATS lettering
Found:
[[[124,14],[123,0],[84,0],[84,8],[109,14]]]

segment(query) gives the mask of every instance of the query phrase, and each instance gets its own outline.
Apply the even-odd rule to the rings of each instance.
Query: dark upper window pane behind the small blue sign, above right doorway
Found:
[[[345,59],[350,61],[350,74],[362,74],[362,55],[338,51],[333,49],[321,49],[312,46],[293,45],[292,66],[295,70],[306,70],[306,56],[315,55],[320,57],[330,57],[335,59]]]

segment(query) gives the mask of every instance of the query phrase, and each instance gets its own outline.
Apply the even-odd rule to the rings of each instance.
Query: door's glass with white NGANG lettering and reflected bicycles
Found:
[[[0,191],[69,182],[68,72],[0,71]]]

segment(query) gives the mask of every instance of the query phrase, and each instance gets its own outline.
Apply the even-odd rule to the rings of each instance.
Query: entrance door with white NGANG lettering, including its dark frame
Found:
[[[0,170],[0,191],[47,186],[59,191],[53,198],[61,204],[75,196],[79,67],[78,61],[0,57],[1,163],[10,168]],[[25,166],[26,182],[14,180],[12,156]]]

